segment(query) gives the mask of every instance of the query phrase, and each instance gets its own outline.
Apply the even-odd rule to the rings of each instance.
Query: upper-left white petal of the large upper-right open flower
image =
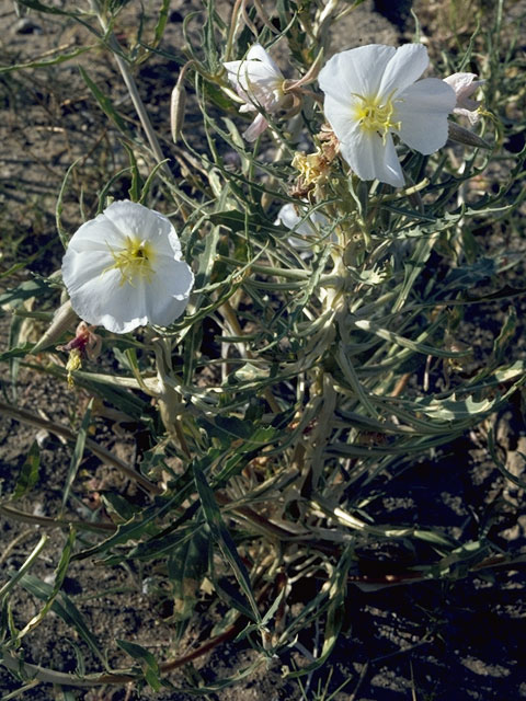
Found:
[[[352,95],[376,93],[386,66],[395,56],[392,46],[369,44],[330,58],[318,76],[325,95],[345,102]]]

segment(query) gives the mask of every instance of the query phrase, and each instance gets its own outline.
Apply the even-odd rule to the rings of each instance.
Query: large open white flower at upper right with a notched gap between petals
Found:
[[[404,184],[393,134],[421,153],[445,145],[455,92],[437,78],[415,82],[427,64],[421,44],[370,44],[336,54],[320,71],[325,117],[362,180]]]

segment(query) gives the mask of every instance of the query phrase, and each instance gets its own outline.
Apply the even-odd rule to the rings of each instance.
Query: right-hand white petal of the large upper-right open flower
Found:
[[[447,115],[455,102],[455,91],[437,78],[407,88],[397,101],[401,140],[420,153],[434,153],[447,141]]]

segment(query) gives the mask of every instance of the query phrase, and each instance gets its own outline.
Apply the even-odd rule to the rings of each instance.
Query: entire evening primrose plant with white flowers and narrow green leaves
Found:
[[[469,188],[502,160],[483,78],[430,68],[419,41],[330,47],[330,27],[359,2],[284,0],[267,13],[238,1],[228,20],[214,2],[197,4],[178,49],[162,41],[169,3],[141,15],[127,44],[116,38],[126,3],[20,4],[80,23],[115,59],[134,113],[124,119],[82,68],[126,160],[66,230],[65,197],[88,161],[71,165],[57,193],[60,269],[2,296],[13,333],[1,359],[13,381],[20,367],[69,380],[87,409],[62,426],[1,402],[72,447],[52,516],[24,507],[38,460],[0,504],[65,542],[50,584],[36,566],[44,537],[0,589],[5,611],[18,587],[43,602],[22,627],[2,618],[1,663],[21,682],[58,687],[207,694],[261,665],[291,679],[327,662],[351,584],[447,579],[505,562],[485,531],[455,539],[369,513],[413,460],[491,422],[526,378],[507,348],[512,315],[483,364],[461,332],[464,310],[499,296],[514,262],[484,253],[470,222],[512,216],[524,194],[514,191],[523,154],[503,164],[496,193]],[[151,56],[180,66],[171,124],[168,101],[153,115],[140,96],[137,70]],[[474,53],[459,68],[467,62],[482,71]],[[20,319],[46,322],[36,342],[18,334]],[[110,425],[118,416],[115,432],[141,436],[135,462],[92,435],[98,411]],[[127,486],[98,491],[87,516],[76,492],[90,452]],[[363,574],[359,547],[386,540],[424,554],[396,576]],[[130,573],[191,652],[150,651],[132,633],[101,640],[62,589],[80,560]],[[316,595],[301,598],[309,581]],[[49,609],[80,641],[75,674],[27,662]],[[298,636],[315,625],[323,642],[307,650]],[[228,639],[255,651],[235,676],[172,676]]]

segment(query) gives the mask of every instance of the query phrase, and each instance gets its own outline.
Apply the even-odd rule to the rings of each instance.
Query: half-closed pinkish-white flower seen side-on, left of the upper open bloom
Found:
[[[281,110],[285,101],[288,102],[288,96],[283,90],[285,78],[260,44],[254,44],[242,61],[227,61],[224,66],[228,80],[238,95],[244,100],[240,112],[256,112],[263,108],[272,114]],[[260,113],[243,136],[247,141],[255,141],[267,126],[268,122]]]

